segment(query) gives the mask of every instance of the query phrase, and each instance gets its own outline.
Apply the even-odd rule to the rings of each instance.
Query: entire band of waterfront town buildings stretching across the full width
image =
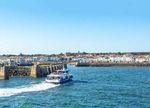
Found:
[[[95,63],[149,63],[150,54],[61,54],[40,56],[0,56],[0,64],[4,65],[29,65],[35,62],[95,62]]]

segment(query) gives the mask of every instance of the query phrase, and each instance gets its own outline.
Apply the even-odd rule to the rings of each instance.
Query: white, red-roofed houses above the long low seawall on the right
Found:
[[[150,63],[150,55],[133,54],[105,54],[105,55],[85,55],[72,59],[78,62],[107,62],[107,63]]]

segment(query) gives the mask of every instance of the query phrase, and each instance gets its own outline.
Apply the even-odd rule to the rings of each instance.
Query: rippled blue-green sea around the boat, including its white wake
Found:
[[[68,67],[74,81],[0,81],[0,108],[150,108],[148,67]]]

